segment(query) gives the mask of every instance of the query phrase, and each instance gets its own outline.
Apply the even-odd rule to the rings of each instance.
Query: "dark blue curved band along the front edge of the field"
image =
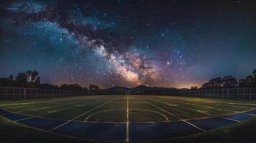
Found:
[[[64,134],[70,137],[93,140],[98,142],[125,142],[127,141],[127,123],[107,122],[68,122],[65,120],[30,117],[0,109],[0,116],[12,121],[26,124],[29,127],[44,131]],[[250,112],[231,114],[223,117],[210,117],[176,122],[141,122],[129,123],[129,142],[146,142],[184,137],[191,134],[207,132],[224,127],[256,116],[256,109]],[[65,124],[67,123],[67,124]],[[189,124],[188,124],[189,123]],[[63,126],[59,127],[60,125]],[[57,129],[55,129],[58,127]]]

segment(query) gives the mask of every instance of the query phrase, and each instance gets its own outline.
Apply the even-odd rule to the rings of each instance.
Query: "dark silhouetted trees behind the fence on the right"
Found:
[[[219,88],[252,88],[256,87],[256,69],[252,71],[252,75],[245,77],[245,79],[237,80],[235,77],[216,77],[209,82],[202,84],[200,89],[219,89]],[[198,89],[197,87],[191,87],[191,89]]]

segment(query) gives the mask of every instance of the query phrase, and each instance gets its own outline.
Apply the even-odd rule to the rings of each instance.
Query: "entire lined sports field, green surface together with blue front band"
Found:
[[[151,141],[172,137],[170,134],[176,131],[182,133],[174,137],[181,137],[242,122],[255,116],[256,101],[149,95],[98,95],[1,101],[0,109],[6,111],[1,113],[4,117],[58,134],[83,138],[85,136],[83,133],[89,132],[85,128],[90,128],[90,132],[97,134],[100,132],[103,137],[98,139],[95,135],[87,134],[85,139],[141,142],[148,141],[148,136],[151,136],[151,133],[148,136],[145,135],[144,130],[156,133],[155,137],[149,137],[152,138],[149,139]],[[73,132],[77,129],[85,130],[77,135]],[[164,132],[164,135],[161,132]],[[113,134],[118,137],[111,138]],[[142,134],[142,137],[139,134]]]

